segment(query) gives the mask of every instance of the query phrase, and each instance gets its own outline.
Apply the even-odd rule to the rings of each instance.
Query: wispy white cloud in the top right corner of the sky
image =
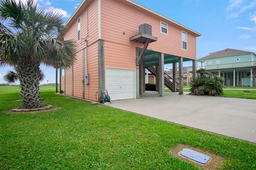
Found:
[[[231,4],[226,8],[226,11],[231,12],[228,18],[236,18],[238,15],[256,6],[256,0],[252,0],[249,4],[241,0],[233,0],[229,1],[229,3],[230,2]]]

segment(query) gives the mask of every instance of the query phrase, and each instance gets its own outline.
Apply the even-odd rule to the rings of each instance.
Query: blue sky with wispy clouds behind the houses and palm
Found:
[[[18,0],[17,0],[18,1]],[[25,0],[22,0],[25,1]],[[41,8],[56,10],[66,20],[81,0],[37,0]],[[197,38],[197,58],[225,48],[256,51],[256,0],[136,0],[187,27],[202,33]],[[184,64],[191,65],[190,62]],[[55,82],[54,70],[41,66],[42,83]],[[171,67],[165,65],[165,67]],[[0,68],[0,83],[10,67]]]

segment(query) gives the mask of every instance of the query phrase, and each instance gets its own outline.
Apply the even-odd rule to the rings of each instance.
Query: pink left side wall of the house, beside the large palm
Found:
[[[73,18],[68,23],[68,31],[65,33],[64,40],[77,41],[77,19],[81,17],[81,40],[77,42],[76,62],[74,64],[74,96],[83,97],[83,49],[84,49],[84,73],[87,73],[86,63],[86,43],[84,38],[87,36],[88,41],[88,70],[90,74],[90,84],[84,85],[85,99],[96,100],[95,95],[98,92],[98,1],[89,1],[89,34],[87,31],[87,4],[75,13]],[[66,70],[66,95],[72,96],[72,70]],[[65,87],[63,86],[63,89]],[[97,97],[98,99],[98,97]]]

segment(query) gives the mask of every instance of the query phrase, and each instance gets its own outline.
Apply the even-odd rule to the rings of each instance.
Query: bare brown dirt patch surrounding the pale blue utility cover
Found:
[[[197,152],[200,152],[204,155],[207,155],[210,157],[210,160],[209,162],[207,162],[205,165],[202,165],[200,163],[197,163],[197,162],[194,162],[193,160],[189,159],[189,158],[186,158],[186,157],[183,157],[179,154],[179,152],[184,149],[184,148],[188,148],[188,149],[192,149],[192,150],[195,150]],[[179,158],[181,160],[185,160],[186,162],[189,162],[195,166],[198,166],[200,168],[203,168],[203,169],[208,169],[208,170],[215,170],[215,169],[219,169],[223,166],[224,164],[224,159],[220,156],[217,156],[215,154],[212,154],[211,152],[208,152],[208,151],[205,151],[205,150],[202,150],[202,149],[199,149],[199,148],[194,148],[194,147],[191,147],[191,146],[187,146],[187,145],[177,145],[173,148],[170,149],[170,154],[176,158]]]

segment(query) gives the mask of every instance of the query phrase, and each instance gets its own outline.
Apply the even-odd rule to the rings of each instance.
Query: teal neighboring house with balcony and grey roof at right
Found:
[[[255,86],[256,56],[253,52],[224,49],[198,59],[205,69],[222,76],[226,86]]]

